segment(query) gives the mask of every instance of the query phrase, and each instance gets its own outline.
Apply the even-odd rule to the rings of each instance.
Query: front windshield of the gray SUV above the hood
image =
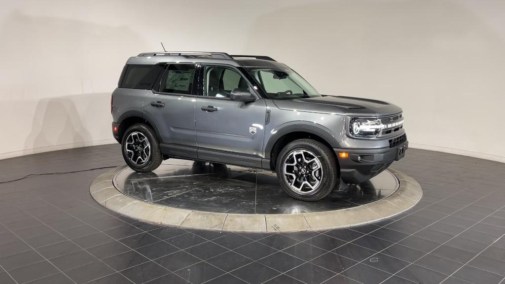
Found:
[[[245,68],[272,100],[321,97],[304,78],[289,68]]]

